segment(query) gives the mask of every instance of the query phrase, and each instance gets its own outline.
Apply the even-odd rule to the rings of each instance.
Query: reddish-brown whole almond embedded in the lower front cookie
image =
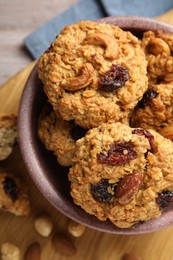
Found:
[[[143,180],[140,173],[128,174],[118,182],[115,188],[115,197],[121,205],[128,204],[139,191]]]

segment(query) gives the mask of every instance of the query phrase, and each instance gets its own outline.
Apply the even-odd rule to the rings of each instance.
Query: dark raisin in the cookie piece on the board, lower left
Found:
[[[4,181],[2,182],[3,189],[5,193],[15,201],[18,198],[18,188],[15,181],[10,177],[5,177]]]

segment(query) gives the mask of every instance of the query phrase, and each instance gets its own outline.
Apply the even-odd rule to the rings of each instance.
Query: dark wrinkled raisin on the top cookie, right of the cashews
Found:
[[[129,80],[128,70],[120,65],[113,64],[111,69],[105,72],[100,78],[100,89],[106,92],[112,92],[122,87]]]

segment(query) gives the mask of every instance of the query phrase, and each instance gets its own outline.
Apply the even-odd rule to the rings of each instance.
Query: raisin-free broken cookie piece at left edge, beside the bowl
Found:
[[[17,141],[17,116],[14,114],[0,115],[0,161],[12,152]]]

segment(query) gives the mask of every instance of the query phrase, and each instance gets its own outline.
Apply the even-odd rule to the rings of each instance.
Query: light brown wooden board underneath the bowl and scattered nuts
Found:
[[[173,24],[173,10],[156,18]],[[0,112],[18,111],[20,96],[34,62],[8,80],[0,88]],[[41,212],[49,212],[54,222],[54,232],[67,232],[68,219],[40,194],[30,179],[18,147],[4,162],[1,169],[21,176],[29,187],[31,213],[28,217],[15,217],[10,213],[0,213],[0,246],[11,242],[20,247],[22,254],[30,243],[39,241],[42,248],[42,260],[69,259],[55,253],[51,245],[51,236],[42,238],[33,228],[33,219]],[[120,260],[124,253],[142,256],[143,260],[173,259],[173,227],[143,235],[112,235],[87,228],[80,238],[72,238],[77,247],[77,254],[72,260]]]

